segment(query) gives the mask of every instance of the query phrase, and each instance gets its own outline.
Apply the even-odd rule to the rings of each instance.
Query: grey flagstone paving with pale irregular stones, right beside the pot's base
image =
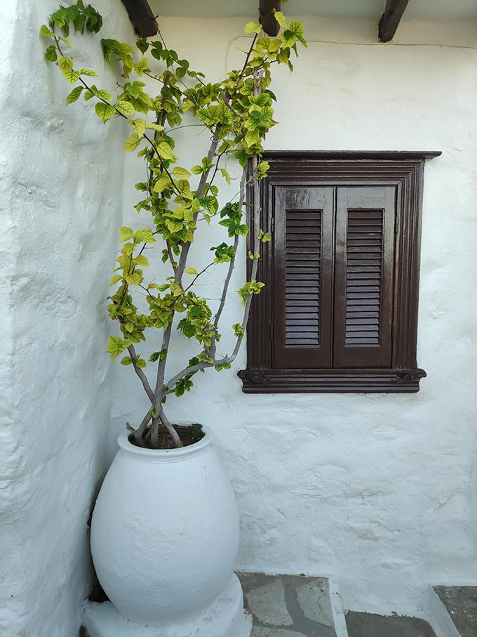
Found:
[[[326,577],[238,573],[251,637],[346,637],[341,598]],[[331,589],[331,590],[330,590]]]

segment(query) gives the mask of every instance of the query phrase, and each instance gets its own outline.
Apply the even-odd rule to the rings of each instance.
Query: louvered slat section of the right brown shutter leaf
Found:
[[[382,250],[382,210],[349,210],[347,252],[354,257],[348,259],[346,272],[346,346],[379,345]]]

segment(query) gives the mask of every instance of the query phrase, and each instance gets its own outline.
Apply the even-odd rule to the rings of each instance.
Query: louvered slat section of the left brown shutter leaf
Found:
[[[319,346],[321,211],[285,213],[285,346]],[[305,313],[304,310],[307,310]]]

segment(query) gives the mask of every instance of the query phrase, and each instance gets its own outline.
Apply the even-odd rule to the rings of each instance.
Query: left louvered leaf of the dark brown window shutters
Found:
[[[273,365],[330,367],[332,188],[275,188]]]

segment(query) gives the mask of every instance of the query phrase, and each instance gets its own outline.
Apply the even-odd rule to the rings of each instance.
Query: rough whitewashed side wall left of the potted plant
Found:
[[[97,3],[133,37],[121,3]],[[43,60],[53,1],[1,6],[0,634],[76,637],[87,520],[105,471],[105,297],[121,222],[122,142]],[[86,41],[91,41],[90,37]],[[89,59],[102,65],[98,43]],[[107,81],[114,87],[112,72]],[[108,79],[109,78],[109,79]],[[89,113],[90,114],[90,113]],[[119,124],[116,124],[119,133]]]

